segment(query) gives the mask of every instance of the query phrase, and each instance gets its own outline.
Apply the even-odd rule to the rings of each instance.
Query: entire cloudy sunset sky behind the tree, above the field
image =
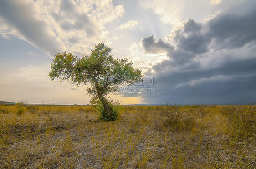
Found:
[[[101,42],[145,76],[111,95],[122,104],[256,101],[255,0],[1,0],[0,101],[89,103],[48,74]]]

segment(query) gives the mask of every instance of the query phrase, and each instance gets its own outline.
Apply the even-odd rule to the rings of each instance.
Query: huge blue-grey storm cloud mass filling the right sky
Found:
[[[146,73],[155,78],[154,93],[141,96],[149,103],[255,102],[256,10],[252,10],[253,5],[256,2],[244,1],[239,5],[244,10],[219,14],[205,24],[193,19],[185,22],[174,36],[176,48],[164,48],[170,59],[154,65],[154,74]],[[163,50],[155,41],[153,35],[141,40],[147,53]],[[161,41],[161,44],[166,43]]]

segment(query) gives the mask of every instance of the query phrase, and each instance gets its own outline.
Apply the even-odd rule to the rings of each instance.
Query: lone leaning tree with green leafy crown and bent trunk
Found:
[[[141,70],[133,68],[127,59],[115,59],[110,54],[111,48],[98,43],[90,55],[77,58],[72,53],[58,53],[51,63],[51,80],[60,79],[77,86],[87,86],[87,93],[97,98],[104,107],[106,121],[116,120],[112,106],[106,99],[109,93],[115,92],[122,83],[132,85],[142,80]]]

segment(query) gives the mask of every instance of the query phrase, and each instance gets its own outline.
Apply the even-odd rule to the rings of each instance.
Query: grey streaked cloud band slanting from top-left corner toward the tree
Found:
[[[33,1],[0,2],[0,16],[8,26],[17,29],[26,41],[41,48],[47,54],[65,50],[64,44],[55,36],[51,26],[38,18],[41,15],[40,11],[41,9]]]

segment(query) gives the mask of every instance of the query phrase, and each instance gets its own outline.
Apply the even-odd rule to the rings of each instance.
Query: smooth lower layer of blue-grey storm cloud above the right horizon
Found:
[[[256,95],[252,94],[256,93],[256,57],[225,62],[210,69],[203,69],[200,64],[191,63],[173,71],[165,65],[170,62],[164,61],[153,67],[156,73],[151,75],[155,78],[156,89],[153,94],[143,93],[147,102],[246,104],[256,101]]]

